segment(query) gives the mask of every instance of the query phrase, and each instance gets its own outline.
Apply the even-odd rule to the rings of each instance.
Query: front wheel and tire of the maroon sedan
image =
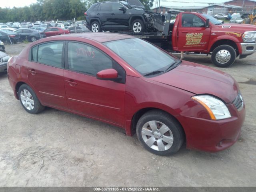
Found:
[[[160,156],[176,153],[184,142],[184,132],[180,124],[161,110],[146,112],[138,120],[136,132],[144,148]]]

